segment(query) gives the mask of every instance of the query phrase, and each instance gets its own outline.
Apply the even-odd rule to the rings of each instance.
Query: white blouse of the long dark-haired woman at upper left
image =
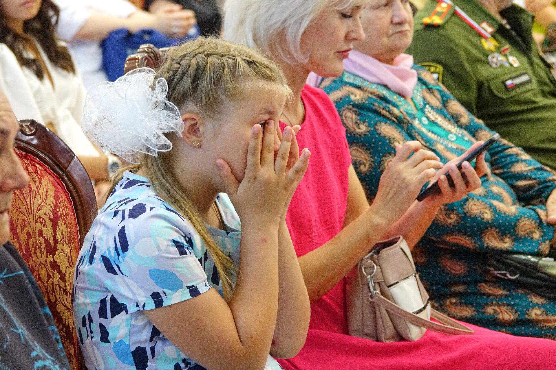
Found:
[[[54,86],[46,73],[40,80],[31,69],[21,67],[12,50],[0,43],[0,90],[8,98],[13,113],[18,120],[51,123],[76,155],[100,156],[81,130],[86,94],[81,75],[56,67],[37,42],[36,45]],[[30,54],[28,57],[32,58]]]

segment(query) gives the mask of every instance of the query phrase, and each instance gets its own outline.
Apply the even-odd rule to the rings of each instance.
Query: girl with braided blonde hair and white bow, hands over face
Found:
[[[284,75],[199,38],[156,75],[138,69],[90,95],[87,135],[138,164],[117,176],[78,257],[87,367],[280,369],[269,353],[295,356],[310,315],[285,224],[309,151],[298,158],[293,128],[275,139]]]

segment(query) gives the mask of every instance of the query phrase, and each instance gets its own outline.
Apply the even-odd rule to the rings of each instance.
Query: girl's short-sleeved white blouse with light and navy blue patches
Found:
[[[239,218],[227,195],[220,194],[217,204],[226,231],[207,230],[239,266]],[[201,237],[155,194],[148,179],[127,171],[93,221],[77,260],[74,318],[87,368],[203,369],[142,311],[188,300],[211,287],[222,294]],[[281,367],[269,356],[266,369]]]

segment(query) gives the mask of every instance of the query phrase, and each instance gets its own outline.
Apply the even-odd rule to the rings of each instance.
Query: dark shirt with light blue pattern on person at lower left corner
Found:
[[[52,313],[10,242],[0,246],[0,369],[70,370]]]

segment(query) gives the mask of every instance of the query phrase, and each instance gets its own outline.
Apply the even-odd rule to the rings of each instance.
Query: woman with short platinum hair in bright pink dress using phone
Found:
[[[478,175],[485,172],[484,157],[480,157],[477,173],[464,166],[469,180],[465,183],[459,171],[451,170],[453,162],[442,167],[436,155],[408,141],[397,146],[389,161],[374,163],[385,171],[369,206],[351,165],[334,104],[321,90],[305,85],[310,71],[324,77],[342,73],[352,43],[364,38],[359,21],[364,3],[227,0],[225,4],[225,38],[260,49],[279,64],[294,93],[282,113],[280,128],[300,125],[298,143],[311,150],[311,165],[286,216],[312,302],[310,330],[301,352],[280,364],[298,370],[484,369],[508,368],[508,364],[512,369],[552,369],[556,343],[475,326],[470,326],[473,336],[429,331],[417,342],[377,343],[347,335],[345,275],[380,239],[401,234],[414,245],[440,205],[478,187]],[[443,174],[448,170],[455,179],[454,188],[446,185]],[[442,194],[414,201],[433,176]]]

